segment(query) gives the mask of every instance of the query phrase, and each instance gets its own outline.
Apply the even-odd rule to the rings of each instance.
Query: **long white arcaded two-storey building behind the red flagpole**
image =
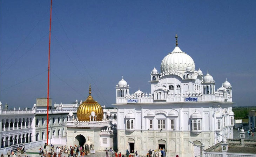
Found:
[[[69,112],[76,114],[77,106],[76,104],[55,104],[54,109],[49,110],[49,139],[66,138],[67,115]],[[20,107],[8,110],[8,106],[5,106],[4,110],[0,103],[1,148],[46,140],[46,132],[47,107],[34,104],[33,109],[29,110],[27,108],[21,110]]]

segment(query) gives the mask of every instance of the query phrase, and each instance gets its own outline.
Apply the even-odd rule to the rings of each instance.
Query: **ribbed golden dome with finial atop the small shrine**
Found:
[[[103,109],[101,105],[96,102],[91,96],[91,84],[89,87],[89,96],[87,99],[78,107],[77,116],[79,121],[90,121],[90,115],[94,111],[95,115],[97,115],[97,121],[101,121],[103,119]]]

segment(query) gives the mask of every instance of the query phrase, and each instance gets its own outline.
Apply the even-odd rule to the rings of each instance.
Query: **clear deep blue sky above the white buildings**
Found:
[[[47,96],[49,10],[50,0],[0,1],[0,100],[11,108]],[[216,88],[227,77],[235,105],[255,105],[255,10],[256,1],[53,0],[53,103],[85,100],[92,83],[95,100],[110,106],[122,75],[130,92],[149,93],[150,72],[160,70],[177,32]]]

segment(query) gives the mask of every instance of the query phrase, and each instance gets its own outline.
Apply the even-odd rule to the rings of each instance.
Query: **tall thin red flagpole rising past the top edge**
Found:
[[[52,3],[53,0],[50,1],[50,29],[52,26]],[[47,86],[47,145],[48,145],[48,129],[49,129],[49,76],[50,76],[50,31],[49,31],[49,54],[48,54],[48,86]]]

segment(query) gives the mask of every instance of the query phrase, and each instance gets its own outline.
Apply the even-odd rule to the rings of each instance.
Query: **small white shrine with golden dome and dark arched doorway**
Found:
[[[86,151],[95,152],[117,149],[116,109],[102,109],[91,96],[79,105],[77,117],[70,112],[67,119],[67,145],[79,145]]]

